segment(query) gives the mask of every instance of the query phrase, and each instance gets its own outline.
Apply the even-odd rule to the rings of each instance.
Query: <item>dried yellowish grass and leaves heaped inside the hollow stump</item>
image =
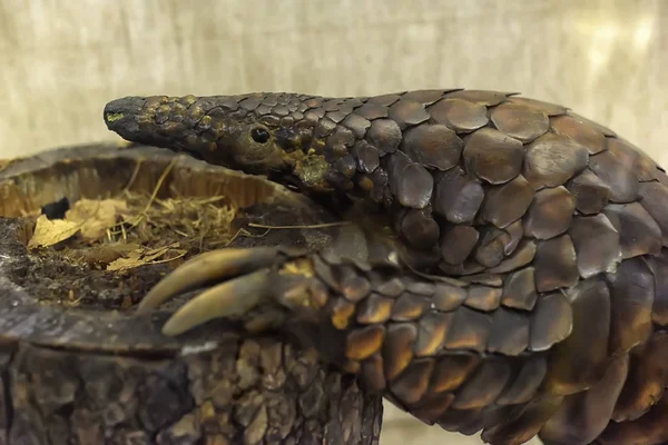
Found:
[[[31,249],[57,254],[109,271],[122,271],[146,264],[175,261],[205,250],[220,248],[245,229],[233,231],[238,209],[224,196],[173,197],[159,199],[158,192],[174,167],[163,171],[151,194],[130,191],[130,182],[111,199],[81,199],[65,219],[37,219]]]

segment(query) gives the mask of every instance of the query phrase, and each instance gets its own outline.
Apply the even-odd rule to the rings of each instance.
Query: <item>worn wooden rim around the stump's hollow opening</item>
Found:
[[[230,324],[212,322],[178,338],[161,335],[168,312],[146,316],[39,304],[36,296],[17,286],[4,270],[21,251],[18,240],[21,212],[62,198],[99,197],[114,194],[135,178],[141,189],[155,187],[164,168],[174,164],[165,189],[181,196],[206,196],[224,187],[235,204],[278,202],[307,208],[311,201],[262,177],[210,166],[188,156],[147,146],[119,147],[114,144],[66,147],[11,161],[0,170],[0,344],[28,340],[32,344],[98,354],[170,356],[215,349],[222,332]],[[114,168],[111,168],[114,167]],[[119,167],[122,169],[119,171]],[[110,169],[111,168],[111,169]],[[136,175],[135,175],[136,176]],[[139,178],[139,179],[138,179]],[[18,202],[18,205],[17,205]],[[9,251],[9,254],[8,254]]]

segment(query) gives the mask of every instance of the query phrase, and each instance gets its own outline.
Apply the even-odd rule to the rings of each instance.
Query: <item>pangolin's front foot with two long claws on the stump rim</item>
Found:
[[[204,289],[164,325],[163,334],[175,336],[214,318],[243,317],[264,304],[293,310],[317,307],[322,290],[313,276],[312,263],[303,251],[279,247],[213,250],[186,261],[158,283],[137,314],[186,291]]]

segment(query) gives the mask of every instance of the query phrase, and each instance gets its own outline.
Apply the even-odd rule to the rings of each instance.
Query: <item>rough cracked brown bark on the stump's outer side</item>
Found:
[[[161,359],[13,346],[0,443],[377,443],[380,400],[273,338]]]

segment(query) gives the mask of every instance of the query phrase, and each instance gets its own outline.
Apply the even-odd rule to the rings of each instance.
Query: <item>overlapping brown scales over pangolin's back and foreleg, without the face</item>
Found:
[[[461,279],[314,261],[365,387],[492,443],[668,441],[668,176],[650,157],[504,92],[261,98],[234,106],[314,128],[411,255],[436,256],[420,271]]]

